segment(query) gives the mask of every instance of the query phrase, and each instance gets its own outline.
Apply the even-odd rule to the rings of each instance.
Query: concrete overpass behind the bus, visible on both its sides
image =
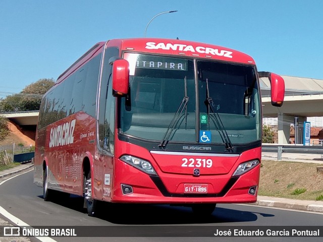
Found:
[[[288,144],[290,124],[298,117],[303,124],[307,117],[323,116],[323,80],[282,76],[285,80],[285,100],[282,107],[274,107],[270,98],[270,82],[267,78],[260,79],[262,116],[278,117],[278,143]],[[19,126],[36,125],[38,111],[5,113]],[[300,126],[302,129],[302,126]],[[302,130],[301,130],[302,132]]]

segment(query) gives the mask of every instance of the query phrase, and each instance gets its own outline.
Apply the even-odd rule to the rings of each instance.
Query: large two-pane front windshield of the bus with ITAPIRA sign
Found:
[[[130,89],[121,99],[121,134],[230,146],[261,139],[253,66],[136,53],[124,58]]]

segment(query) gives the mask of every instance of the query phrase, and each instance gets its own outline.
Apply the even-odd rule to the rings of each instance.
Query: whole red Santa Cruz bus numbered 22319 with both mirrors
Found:
[[[114,39],[82,55],[44,95],[34,183],[97,201],[212,213],[257,200],[259,76],[283,104],[284,80],[239,51],[183,40]],[[56,191],[55,191],[56,190]],[[54,194],[53,194],[54,193]]]

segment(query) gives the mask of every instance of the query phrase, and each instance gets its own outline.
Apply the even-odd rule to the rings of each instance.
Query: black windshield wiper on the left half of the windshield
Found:
[[[183,112],[183,110],[185,109],[185,128],[187,127],[187,103],[188,103],[188,99],[189,97],[187,96],[187,85],[186,85],[186,76],[184,78],[184,97],[182,99],[182,102],[180,103],[180,105],[177,108],[177,111],[170,123],[170,125],[167,128],[167,131],[164,135],[163,141],[160,142],[160,144],[158,145],[158,147],[161,147],[163,149],[166,148],[169,139],[171,137],[171,134],[173,132],[173,130],[175,129],[175,127],[177,126],[179,120],[180,120],[180,116]]]

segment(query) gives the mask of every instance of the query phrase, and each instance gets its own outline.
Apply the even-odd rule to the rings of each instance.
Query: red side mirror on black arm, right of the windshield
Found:
[[[281,107],[284,102],[285,96],[285,82],[284,79],[270,72],[258,72],[259,78],[267,77],[271,82],[271,96],[272,96],[272,105],[276,107]]]

